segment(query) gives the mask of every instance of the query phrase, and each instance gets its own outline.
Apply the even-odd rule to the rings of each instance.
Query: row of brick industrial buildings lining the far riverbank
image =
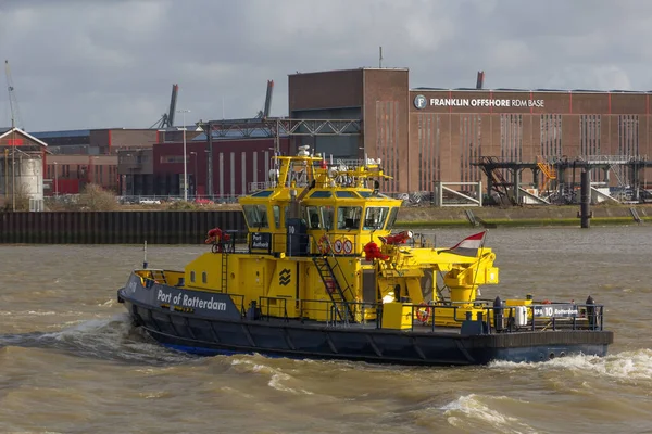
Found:
[[[481,79],[467,89],[411,87],[408,68],[288,80],[287,118],[269,117],[269,81],[255,117],[191,123],[186,155],[184,131],[173,127],[176,85],[156,128],[35,133],[53,151],[46,184],[84,179],[123,195],[181,196],[186,166],[190,196],[237,196],[266,180],[274,152],[308,144],[334,161],[380,159],[393,177],[381,184],[387,193],[432,192],[441,182],[560,188],[575,182],[576,166],[604,187],[648,187],[652,92],[484,89]],[[488,169],[502,173],[494,179]]]

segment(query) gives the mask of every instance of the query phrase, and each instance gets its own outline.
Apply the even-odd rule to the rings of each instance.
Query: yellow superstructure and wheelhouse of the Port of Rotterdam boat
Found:
[[[477,290],[499,282],[494,254],[462,256],[408,232],[394,240],[401,201],[378,192],[388,178],[379,162],[328,164],[305,148],[275,158],[267,188],[240,199],[247,245],[217,240],[215,253],[177,277],[179,288],[231,294],[243,311],[253,305],[267,316],[315,321],[383,316],[391,329],[417,317],[459,327],[486,311]]]

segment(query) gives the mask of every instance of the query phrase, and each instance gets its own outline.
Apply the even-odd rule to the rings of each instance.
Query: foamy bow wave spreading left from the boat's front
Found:
[[[47,348],[75,356],[146,365],[180,363],[197,357],[164,348],[131,324],[127,314],[84,321],[58,332],[0,335],[0,348]]]

